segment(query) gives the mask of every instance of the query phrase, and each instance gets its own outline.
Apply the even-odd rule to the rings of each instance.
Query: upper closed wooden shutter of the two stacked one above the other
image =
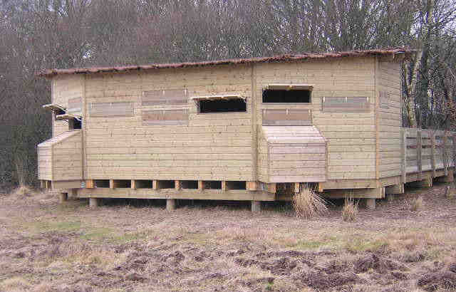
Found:
[[[141,105],[186,105],[187,90],[167,89],[142,92]]]

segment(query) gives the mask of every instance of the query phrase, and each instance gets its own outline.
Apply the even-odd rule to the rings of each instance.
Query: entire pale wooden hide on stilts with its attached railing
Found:
[[[375,199],[452,179],[453,132],[401,128],[403,48],[54,69],[43,185],[98,198]]]

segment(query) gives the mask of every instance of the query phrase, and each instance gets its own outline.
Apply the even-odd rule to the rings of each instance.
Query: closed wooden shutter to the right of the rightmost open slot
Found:
[[[325,113],[338,112],[368,112],[371,104],[367,97],[333,97],[321,99],[321,111]]]

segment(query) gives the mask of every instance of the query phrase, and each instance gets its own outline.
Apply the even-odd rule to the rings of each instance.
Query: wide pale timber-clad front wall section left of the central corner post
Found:
[[[133,115],[86,117],[86,179],[253,180],[252,66],[87,75],[86,103]],[[191,97],[241,95],[245,113],[197,113]]]

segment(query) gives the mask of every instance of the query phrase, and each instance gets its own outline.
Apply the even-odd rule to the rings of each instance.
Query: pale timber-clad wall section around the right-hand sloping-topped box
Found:
[[[257,124],[263,110],[311,110],[312,124],[328,142],[327,179],[375,178],[375,58],[258,64]],[[262,103],[261,90],[271,83],[314,85],[311,103]],[[323,98],[363,98],[362,108],[323,111]],[[326,99],[326,100],[327,100]]]

